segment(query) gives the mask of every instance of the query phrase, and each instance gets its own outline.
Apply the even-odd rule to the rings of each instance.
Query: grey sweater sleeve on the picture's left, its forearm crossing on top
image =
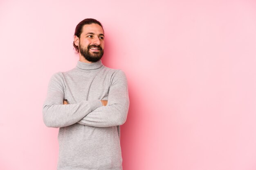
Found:
[[[47,97],[43,104],[43,121],[48,127],[72,125],[102,106],[101,100],[83,100],[76,104],[63,105],[64,89],[63,77],[58,72],[49,81]]]

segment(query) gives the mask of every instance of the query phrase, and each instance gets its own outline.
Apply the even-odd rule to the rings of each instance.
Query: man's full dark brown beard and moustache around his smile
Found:
[[[99,49],[99,52],[90,52],[90,48],[92,47],[96,47]],[[83,48],[79,42],[79,51],[81,53],[81,55],[88,61],[90,62],[96,62],[99,61],[101,59],[101,57],[104,54],[104,50],[101,48],[101,46],[97,46],[97,45],[90,45],[86,48]]]

